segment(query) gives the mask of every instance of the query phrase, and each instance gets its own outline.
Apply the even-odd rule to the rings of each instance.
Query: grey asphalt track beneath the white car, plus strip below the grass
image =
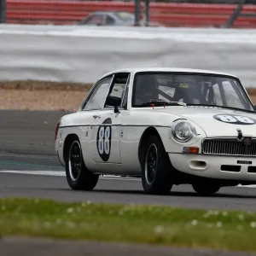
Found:
[[[256,189],[224,188],[213,196],[200,197],[189,185],[173,187],[170,195],[145,195],[137,178],[101,177],[96,189],[91,192],[73,191],[68,188],[63,166],[54,151],[55,125],[65,112],[0,111],[0,197],[26,196],[59,201],[96,201],[113,203],[140,203],[169,205],[175,207],[232,209],[256,211]],[[27,242],[27,244],[26,244]],[[67,244],[0,240],[0,254],[18,255],[24,250],[27,255],[67,255]],[[24,247],[26,244],[26,247]],[[44,250],[40,248],[44,247]],[[69,246],[70,247],[70,246]],[[86,249],[84,249],[84,247]],[[183,251],[151,247],[126,247],[91,243],[71,249],[76,255],[231,255],[212,251]],[[71,248],[71,247],[70,247]],[[79,251],[80,248],[80,251]],[[93,249],[94,248],[94,249]],[[96,249],[96,250],[95,250]],[[36,251],[35,251],[36,250]],[[108,253],[106,253],[108,250]],[[113,252],[113,253],[111,253]],[[150,253],[152,252],[152,254]],[[66,254],[65,254],[66,253]],[[236,255],[236,253],[232,254]],[[249,255],[239,253],[237,255]]]

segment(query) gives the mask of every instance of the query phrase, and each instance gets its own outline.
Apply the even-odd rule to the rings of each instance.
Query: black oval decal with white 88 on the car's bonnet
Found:
[[[256,119],[251,117],[247,117],[244,115],[237,114],[215,114],[213,115],[213,119],[217,119],[218,121],[233,124],[233,125],[254,125],[256,124]]]

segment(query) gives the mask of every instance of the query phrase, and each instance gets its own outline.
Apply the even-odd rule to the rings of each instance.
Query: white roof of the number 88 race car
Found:
[[[111,75],[113,73],[138,73],[138,72],[170,72],[170,73],[206,73],[206,74],[218,74],[223,76],[237,77],[230,73],[223,73],[214,70],[207,69],[193,69],[193,68],[182,68],[182,67],[136,67],[136,68],[124,68],[113,70],[112,72],[105,73],[102,78]],[[100,79],[102,79],[100,78]]]

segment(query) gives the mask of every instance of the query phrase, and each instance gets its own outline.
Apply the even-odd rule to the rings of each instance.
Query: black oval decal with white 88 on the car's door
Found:
[[[107,119],[108,120],[108,119]],[[107,123],[108,121],[104,121],[103,124]],[[111,120],[110,120],[111,123]],[[100,157],[103,161],[108,161],[109,155],[110,155],[110,149],[111,149],[111,126],[109,125],[102,125],[99,127],[98,133],[97,133],[97,149],[98,153],[100,154]]]

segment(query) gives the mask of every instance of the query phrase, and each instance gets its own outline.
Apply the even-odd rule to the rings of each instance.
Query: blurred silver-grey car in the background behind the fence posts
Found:
[[[141,21],[141,23],[143,23]],[[79,25],[88,26],[134,26],[135,15],[120,11],[97,11],[87,15]],[[143,24],[142,24],[143,26]],[[149,22],[149,26],[162,26],[157,22]]]

